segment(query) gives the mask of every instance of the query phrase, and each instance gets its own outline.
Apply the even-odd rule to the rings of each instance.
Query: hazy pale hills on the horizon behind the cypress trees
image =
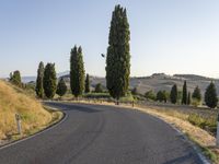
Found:
[[[57,74],[58,78],[64,78],[69,85],[69,71],[65,71]],[[106,87],[105,78],[90,75],[91,86],[95,87],[97,83],[101,83],[104,87]],[[217,86],[218,95],[219,95],[219,80],[207,78],[197,74],[174,74],[168,75],[165,73],[153,73],[149,77],[132,77],[130,78],[130,89],[137,87],[138,92],[145,94],[149,90],[153,90],[158,92],[160,90],[170,91],[172,85],[177,84],[178,89],[182,90],[184,81],[187,81],[188,91],[193,92],[194,89],[198,85],[201,90],[201,94],[204,95],[207,85],[214,81]],[[30,82],[35,81],[34,77],[23,78],[23,81]]]

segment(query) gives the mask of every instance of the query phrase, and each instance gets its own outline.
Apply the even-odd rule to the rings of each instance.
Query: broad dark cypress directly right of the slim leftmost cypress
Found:
[[[56,70],[55,63],[47,63],[44,71],[44,92],[47,98],[53,98],[56,94]]]

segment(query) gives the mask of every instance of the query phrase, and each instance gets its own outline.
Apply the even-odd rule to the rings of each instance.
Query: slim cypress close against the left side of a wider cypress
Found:
[[[44,97],[44,85],[43,85],[43,80],[44,80],[44,62],[41,61],[38,65],[38,70],[37,70],[37,78],[36,78],[36,95],[39,98]]]

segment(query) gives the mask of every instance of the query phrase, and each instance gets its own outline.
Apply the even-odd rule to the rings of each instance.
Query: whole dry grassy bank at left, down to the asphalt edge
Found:
[[[62,114],[44,107],[31,91],[0,80],[0,144],[33,134],[58,121]],[[18,133],[15,115],[21,116],[23,136]]]

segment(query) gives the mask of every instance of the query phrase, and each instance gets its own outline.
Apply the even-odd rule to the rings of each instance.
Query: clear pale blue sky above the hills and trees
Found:
[[[219,78],[218,0],[1,0],[0,77],[36,75],[39,61],[69,70],[70,49],[83,49],[85,71],[105,75],[115,4],[127,8],[131,75],[154,72]]]

